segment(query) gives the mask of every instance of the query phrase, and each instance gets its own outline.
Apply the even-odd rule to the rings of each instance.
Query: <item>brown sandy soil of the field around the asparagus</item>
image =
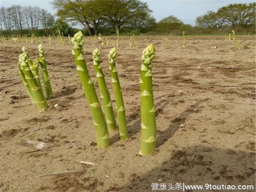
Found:
[[[237,37],[240,46],[249,44],[241,51],[224,36],[186,36],[186,48],[181,36],[168,38],[168,48],[160,36],[136,37],[134,48],[129,37],[120,40],[117,67],[130,139],[122,142],[118,131],[111,132],[112,145],[104,149],[95,146],[72,45],[44,45],[54,98],[48,100],[48,110],[38,112],[17,72],[22,46],[34,59],[38,44],[1,43],[0,191],[149,192],[152,183],[177,182],[255,189],[255,36]],[[154,154],[141,156],[138,82],[141,53],[148,42],[156,47],[152,72],[158,144]],[[86,40],[85,58],[95,81],[91,52],[100,48],[114,101],[107,63],[112,46],[100,44]],[[22,140],[56,146],[28,153],[33,149],[20,145]],[[38,177],[64,170],[84,172]]]

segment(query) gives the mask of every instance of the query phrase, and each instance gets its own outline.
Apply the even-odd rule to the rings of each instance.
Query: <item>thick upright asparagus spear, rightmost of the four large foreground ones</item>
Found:
[[[156,148],[156,110],[152,89],[152,59],[155,56],[153,44],[149,44],[142,52],[140,70],[141,100],[141,146],[140,154],[150,154]]]

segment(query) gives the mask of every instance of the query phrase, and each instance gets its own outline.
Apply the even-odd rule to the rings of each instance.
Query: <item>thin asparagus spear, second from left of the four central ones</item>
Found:
[[[92,52],[92,54],[93,54],[93,60],[94,60],[93,66],[96,72],[97,82],[100,88],[100,96],[102,98],[102,102],[104,105],[106,123],[108,126],[108,130],[112,131],[116,129],[116,120],[115,120],[108,88],[104,79],[102,67],[100,65],[100,51],[98,49],[95,49]]]

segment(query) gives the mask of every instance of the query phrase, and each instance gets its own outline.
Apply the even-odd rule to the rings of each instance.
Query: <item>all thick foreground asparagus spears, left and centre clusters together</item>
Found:
[[[95,49],[93,54],[93,65],[96,72],[96,79],[100,90],[100,97],[102,99],[103,110],[100,106],[98,96],[96,94],[94,84],[90,79],[87,70],[86,62],[84,60],[84,36],[82,32],[78,32],[72,38],[74,48],[72,54],[76,63],[76,70],[82,84],[82,89],[89,105],[92,115],[93,124],[96,132],[97,146],[108,147],[110,146],[109,131],[116,130],[118,127],[120,139],[128,140],[128,129],[126,122],[126,114],[124,101],[122,97],[122,89],[118,79],[118,72],[116,66],[117,50],[112,48],[108,55],[110,76],[112,79],[112,86],[116,100],[117,123],[112,108],[110,94],[104,79],[102,66],[100,64],[100,51]],[[44,81],[44,89],[46,91],[46,98],[52,96],[50,88],[50,79],[48,76],[46,62],[44,60],[44,53],[42,45],[38,46],[39,60],[31,62],[26,48],[22,48],[23,53],[19,58],[19,72],[24,86],[28,92],[33,103],[35,103],[39,110],[48,108],[40,79],[38,75],[38,66],[40,64],[42,76]],[[141,147],[140,154],[150,154],[156,148],[156,110],[154,108],[153,89],[152,89],[152,60],[155,56],[155,49],[153,44],[148,46],[142,52],[142,64],[140,73],[140,98],[141,98]],[[47,73],[47,77],[45,76]],[[47,92],[50,88],[51,92]]]

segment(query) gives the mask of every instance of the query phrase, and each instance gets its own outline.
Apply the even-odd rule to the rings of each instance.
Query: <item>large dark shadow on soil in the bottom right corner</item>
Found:
[[[172,183],[172,186],[176,183],[181,183],[182,186],[183,183],[186,185],[225,183],[236,186],[253,185],[255,190],[255,154],[214,147],[206,150],[206,147],[202,145],[191,146],[184,150],[173,150],[170,153],[172,156],[160,166],[142,175],[131,174],[130,181],[121,189],[109,188],[107,191],[149,192],[152,191],[152,183],[165,183],[166,190],[170,190],[169,183]],[[198,190],[184,191],[196,192]]]

